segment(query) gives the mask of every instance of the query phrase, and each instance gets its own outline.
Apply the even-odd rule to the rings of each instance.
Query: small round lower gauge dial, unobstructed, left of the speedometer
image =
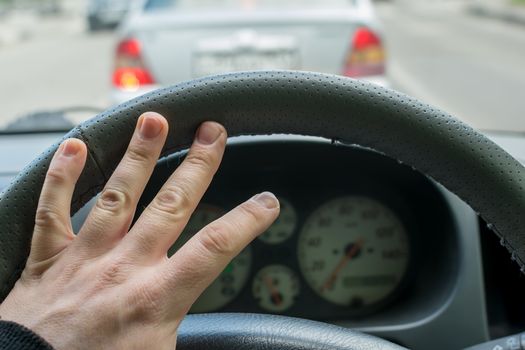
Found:
[[[266,266],[253,279],[253,297],[261,308],[271,312],[290,308],[299,290],[297,275],[284,265]]]

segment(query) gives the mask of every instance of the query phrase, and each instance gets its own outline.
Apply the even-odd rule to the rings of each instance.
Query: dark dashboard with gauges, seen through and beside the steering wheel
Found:
[[[0,188],[59,137],[0,135]],[[159,161],[136,217],[184,156]],[[493,316],[487,318],[486,298],[499,287],[484,284],[492,266],[484,269],[484,261],[493,262],[481,250],[478,217],[439,184],[370,149],[291,135],[230,139],[212,185],[168,254],[265,190],[280,200],[279,219],[190,312],[308,318],[409,348],[459,349],[488,340]],[[92,204],[74,215],[74,229]],[[489,306],[502,315],[497,303]]]

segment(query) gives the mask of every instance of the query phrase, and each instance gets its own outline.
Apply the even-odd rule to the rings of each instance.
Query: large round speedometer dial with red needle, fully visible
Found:
[[[401,220],[367,197],[329,201],[306,220],[298,258],[310,287],[325,300],[359,308],[391,294],[408,265]]]

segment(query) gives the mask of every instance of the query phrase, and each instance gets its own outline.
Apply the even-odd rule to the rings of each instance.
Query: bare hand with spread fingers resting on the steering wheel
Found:
[[[203,123],[182,165],[129,230],[168,133],[143,114],[129,147],[79,234],[70,203],[86,146],[66,140],[47,173],[22,276],[0,316],[56,349],[173,349],[192,303],[279,214],[271,193],[256,195],[209,224],[171,258],[167,251],[219,167],[226,130]]]

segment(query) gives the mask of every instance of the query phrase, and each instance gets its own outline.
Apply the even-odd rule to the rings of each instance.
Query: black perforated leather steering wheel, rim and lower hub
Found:
[[[349,78],[307,72],[242,72],[158,90],[99,114],[65,138],[89,149],[72,213],[104,186],[124,155],[141,113],[170,123],[163,156],[188,147],[198,125],[223,124],[230,136],[290,133],[358,144],[430,176],[468,203],[525,271],[525,168],[450,115],[413,98]],[[0,297],[24,268],[38,197],[57,145],[29,164],[0,197]],[[278,316],[188,316],[181,349],[400,349],[341,327]]]

